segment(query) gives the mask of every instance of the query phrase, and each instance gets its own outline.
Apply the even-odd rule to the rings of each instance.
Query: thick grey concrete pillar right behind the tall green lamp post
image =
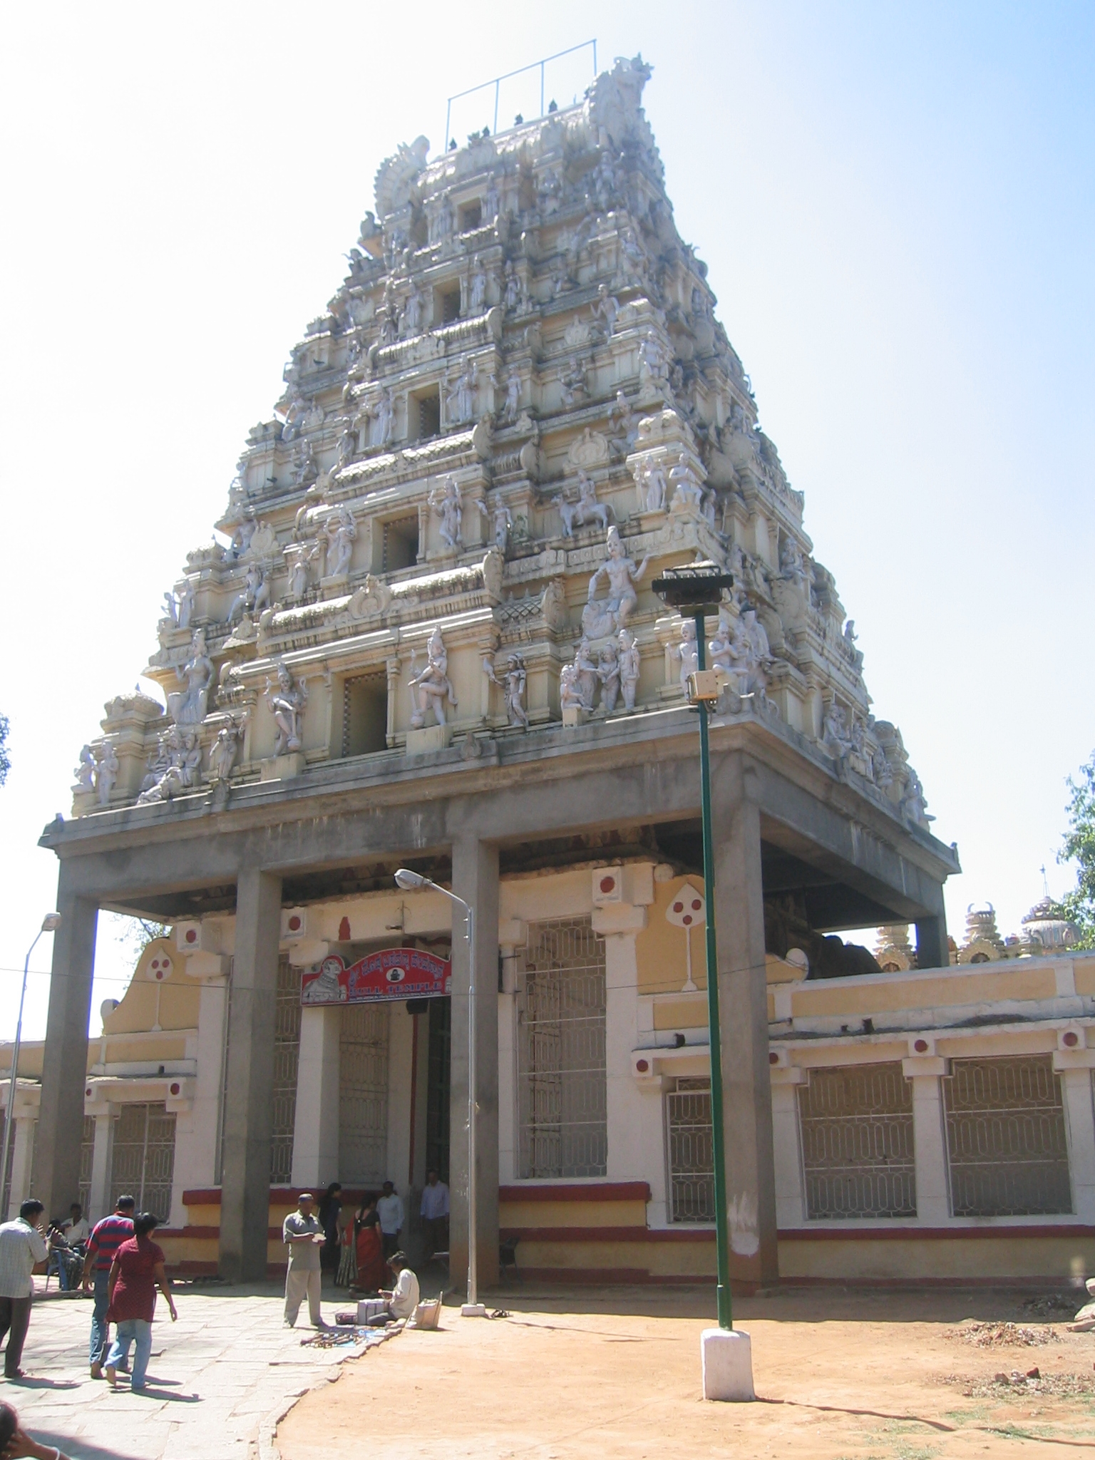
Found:
[[[780,1276],[780,1254],[768,1076],[761,812],[755,781],[740,753],[721,756],[712,765],[714,914],[730,1276],[736,1282],[774,1283]]]

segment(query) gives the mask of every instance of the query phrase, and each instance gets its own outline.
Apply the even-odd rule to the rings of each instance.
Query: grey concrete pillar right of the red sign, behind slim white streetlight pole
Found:
[[[476,911],[476,1209],[480,1288],[498,1282],[498,848],[469,835],[453,842],[453,892]],[[467,1282],[467,987],[464,918],[453,908],[450,1107],[450,1273]]]

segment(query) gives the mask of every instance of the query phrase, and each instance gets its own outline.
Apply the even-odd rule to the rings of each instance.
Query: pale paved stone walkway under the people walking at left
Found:
[[[42,1279],[35,1279],[38,1289]],[[324,1317],[346,1307],[324,1288]],[[311,1332],[282,1324],[282,1295],[273,1283],[175,1291],[178,1323],[156,1301],[147,1390],[131,1394],[124,1375],[111,1391],[88,1371],[89,1298],[50,1295],[35,1301],[18,1383],[0,1380],[31,1434],[60,1445],[73,1460],[263,1460],[276,1451],[260,1434],[299,1394],[333,1377],[359,1352],[352,1346],[302,1348]],[[130,1361],[133,1350],[130,1350]]]

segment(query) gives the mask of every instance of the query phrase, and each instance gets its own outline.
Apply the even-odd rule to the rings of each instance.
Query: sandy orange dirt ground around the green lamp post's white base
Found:
[[[1082,1298],[784,1289],[734,1302],[753,1405],[699,1397],[712,1295],[508,1294],[510,1317],[400,1334],[282,1421],[282,1460],[958,1460],[1095,1451],[1095,1333]],[[1026,1378],[1038,1369],[1037,1378]],[[1000,1378],[996,1378],[1000,1375]]]

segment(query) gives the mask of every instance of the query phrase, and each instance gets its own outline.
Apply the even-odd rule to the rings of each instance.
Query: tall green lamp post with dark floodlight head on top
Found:
[[[714,562],[692,562],[666,568],[651,587],[670,609],[691,615],[696,626],[696,673],[689,675],[689,701],[699,711],[699,806],[704,832],[704,895],[707,898],[707,1023],[711,1047],[711,1142],[715,1181],[715,1261],[718,1267],[718,1327],[733,1329],[730,1313],[730,1240],[726,1222],[726,1150],[723,1146],[723,1047],[718,1028],[718,959],[715,955],[715,858],[711,840],[711,750],[707,736],[708,704],[721,686],[717,670],[707,667],[704,619],[718,612],[723,588],[733,587],[733,574]]]

